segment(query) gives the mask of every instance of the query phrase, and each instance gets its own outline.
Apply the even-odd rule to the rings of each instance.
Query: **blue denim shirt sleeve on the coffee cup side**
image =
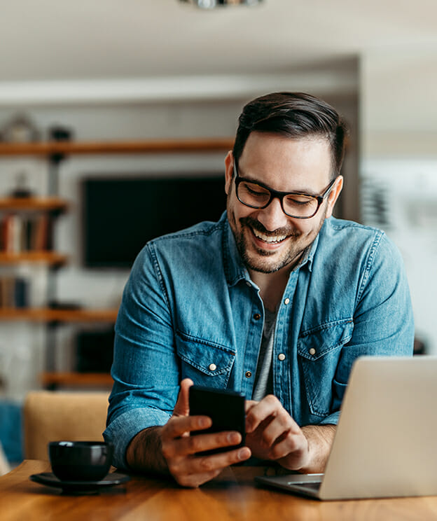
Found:
[[[127,468],[134,436],[163,425],[179,392],[179,364],[172,316],[153,249],[139,253],[123,292],[116,321],[105,440],[114,445],[113,465]]]

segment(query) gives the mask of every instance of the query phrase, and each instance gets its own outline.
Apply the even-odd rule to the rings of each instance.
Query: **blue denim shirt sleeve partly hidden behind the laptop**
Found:
[[[401,253],[380,232],[366,258],[356,296],[352,338],[342,349],[333,382],[332,414],[337,424],[352,364],[359,356],[412,356],[414,320]]]

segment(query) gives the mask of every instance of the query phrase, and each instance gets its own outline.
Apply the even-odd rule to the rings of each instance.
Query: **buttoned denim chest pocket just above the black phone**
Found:
[[[235,360],[233,349],[177,331],[176,351],[183,378],[206,387],[227,387]]]

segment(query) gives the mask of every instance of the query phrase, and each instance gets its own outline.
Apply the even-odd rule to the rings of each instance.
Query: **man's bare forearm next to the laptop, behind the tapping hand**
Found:
[[[299,471],[305,474],[324,472],[331,452],[335,425],[307,425],[302,427],[302,431],[308,441],[310,460]]]

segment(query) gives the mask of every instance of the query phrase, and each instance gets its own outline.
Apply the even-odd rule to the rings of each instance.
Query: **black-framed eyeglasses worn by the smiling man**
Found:
[[[320,205],[331,193],[335,179],[329,183],[328,188],[321,195],[308,195],[306,193],[278,192],[263,183],[258,183],[240,177],[237,165],[234,161],[235,192],[237,199],[250,208],[267,208],[276,197],[281,202],[282,211],[289,217],[296,219],[309,219],[317,214]]]

